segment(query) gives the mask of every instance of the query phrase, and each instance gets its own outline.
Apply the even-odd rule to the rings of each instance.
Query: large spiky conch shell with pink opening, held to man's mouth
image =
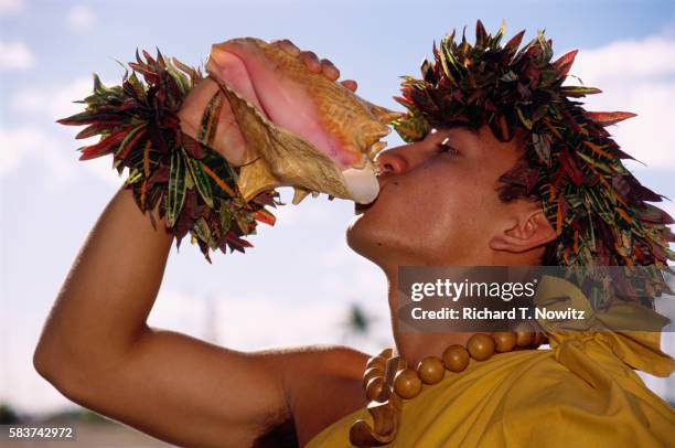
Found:
[[[227,97],[246,143],[245,200],[276,186],[369,203],[379,192],[373,159],[399,116],[371,104],[298,57],[255,38],[214,44],[206,71]]]

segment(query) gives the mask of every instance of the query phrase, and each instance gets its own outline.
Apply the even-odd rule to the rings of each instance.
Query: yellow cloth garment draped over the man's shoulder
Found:
[[[581,307],[570,295],[570,305]],[[550,332],[550,349],[494,354],[403,405],[392,447],[675,447],[675,410],[633,367],[668,376],[660,332]],[[307,447],[349,447],[338,420]]]

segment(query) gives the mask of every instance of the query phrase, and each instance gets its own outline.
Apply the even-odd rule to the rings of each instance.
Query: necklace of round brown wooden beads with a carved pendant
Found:
[[[417,369],[408,367],[401,356],[394,356],[393,349],[383,350],[367,361],[363,375],[373,426],[363,418],[357,419],[350,429],[350,441],[356,447],[390,444],[400,424],[403,401],[418,396],[422,385],[439,383],[446,371],[462,372],[471,358],[485,361],[495,352],[536,349],[547,341],[546,333],[532,331],[531,327],[517,331],[475,333],[469,338],[467,346],[452,344],[446,349],[442,359],[427,356]]]

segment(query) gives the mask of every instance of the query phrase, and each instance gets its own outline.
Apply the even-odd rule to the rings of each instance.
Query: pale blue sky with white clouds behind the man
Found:
[[[0,399],[26,410],[67,403],[32,371],[32,349],[121,179],[107,159],[78,161],[77,129],[54,120],[81,110],[71,102],[90,92],[93,72],[118,84],[124,70],[115,60],[132,61],[136,47],[158,46],[197,65],[213,43],[288,38],[331,58],[363,97],[398,108],[392,99],[398,76],[418,75],[433,40],[453,28],[467,25],[470,41],[479,18],[490,32],[505,19],[507,38],[526,29],[526,41],[545,28],[556,55],[580,50],[571,73],[604,90],[589,109],[639,114],[611,132],[647,163],[630,167],[643,183],[675,199],[675,137],[667,127],[675,122],[674,2],[467,3],[0,0]],[[398,143],[393,136],[389,146]],[[675,212],[672,203],[665,207]],[[346,201],[308,199],[280,211],[274,228],[260,226],[247,255],[218,253],[211,266],[186,243],[180,254],[172,249],[150,322],[238,349],[388,344],[384,277],[344,243],[352,214]],[[257,280],[259,271],[267,281]],[[342,322],[354,300],[376,318],[369,340],[345,339]],[[672,334],[667,342],[673,352]],[[665,393],[665,382],[650,384]]]

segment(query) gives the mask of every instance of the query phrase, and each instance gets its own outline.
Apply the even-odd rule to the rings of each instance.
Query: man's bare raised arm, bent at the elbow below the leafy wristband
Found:
[[[249,445],[289,412],[283,356],[149,328],[170,246],[120,190],[58,294],[35,367],[73,401],[163,440]]]

